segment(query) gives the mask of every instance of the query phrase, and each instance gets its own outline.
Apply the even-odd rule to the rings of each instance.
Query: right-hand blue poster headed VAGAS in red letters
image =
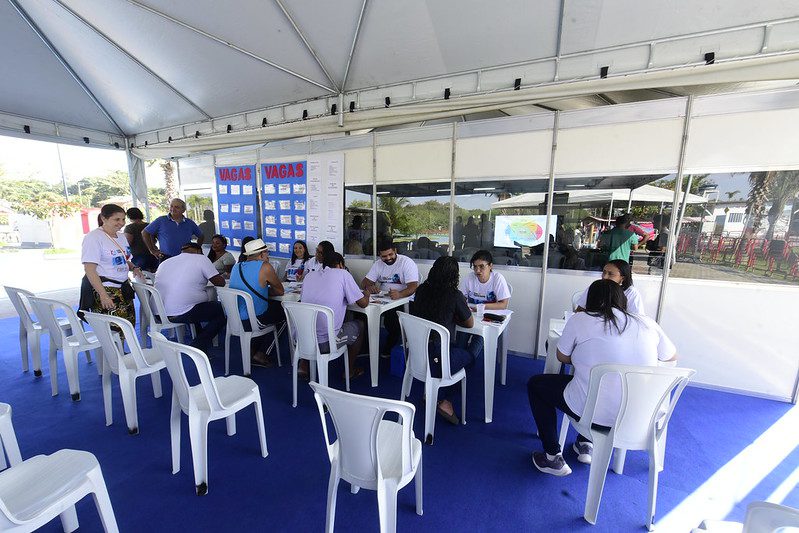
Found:
[[[294,241],[307,240],[306,161],[261,165],[263,239],[270,255],[291,257]]]

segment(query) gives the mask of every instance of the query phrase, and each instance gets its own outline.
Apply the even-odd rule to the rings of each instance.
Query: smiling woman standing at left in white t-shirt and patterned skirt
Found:
[[[106,204],[97,215],[97,222],[100,227],[83,237],[81,262],[86,276],[81,284],[79,307],[122,317],[135,325],[134,293],[128,272],[142,274],[139,267],[130,262],[127,238],[119,233],[125,225],[125,210]]]

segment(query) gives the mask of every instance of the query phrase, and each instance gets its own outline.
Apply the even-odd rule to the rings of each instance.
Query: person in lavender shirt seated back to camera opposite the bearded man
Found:
[[[336,334],[336,345],[347,345],[347,357],[350,365],[350,379],[364,373],[363,368],[355,366],[358,354],[363,346],[363,323],[360,320],[345,321],[347,305],[358,304],[359,307],[369,305],[369,293],[358,288],[358,284],[344,267],[344,258],[333,252],[326,254],[322,268],[309,272],[302,283],[303,303],[319,304],[333,310],[333,331]],[[330,352],[327,338],[327,322],[323,316],[318,317],[316,335],[319,350]],[[303,364],[304,363],[304,364]],[[300,373],[307,375],[308,361],[300,361]]]

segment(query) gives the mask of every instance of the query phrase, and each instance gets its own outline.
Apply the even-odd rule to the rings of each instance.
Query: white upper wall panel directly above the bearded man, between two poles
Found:
[[[377,181],[449,180],[452,141],[427,141],[377,147]]]

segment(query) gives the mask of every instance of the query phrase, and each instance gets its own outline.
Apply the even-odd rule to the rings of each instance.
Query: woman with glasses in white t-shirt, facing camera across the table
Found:
[[[486,311],[507,309],[510,302],[510,286],[505,281],[505,276],[494,272],[494,257],[491,252],[477,250],[469,265],[472,271],[461,282],[461,292],[466,296],[469,308],[478,313],[483,309]],[[480,353],[483,348],[483,338],[479,335],[458,332],[456,342],[459,347],[469,348],[473,353]]]

